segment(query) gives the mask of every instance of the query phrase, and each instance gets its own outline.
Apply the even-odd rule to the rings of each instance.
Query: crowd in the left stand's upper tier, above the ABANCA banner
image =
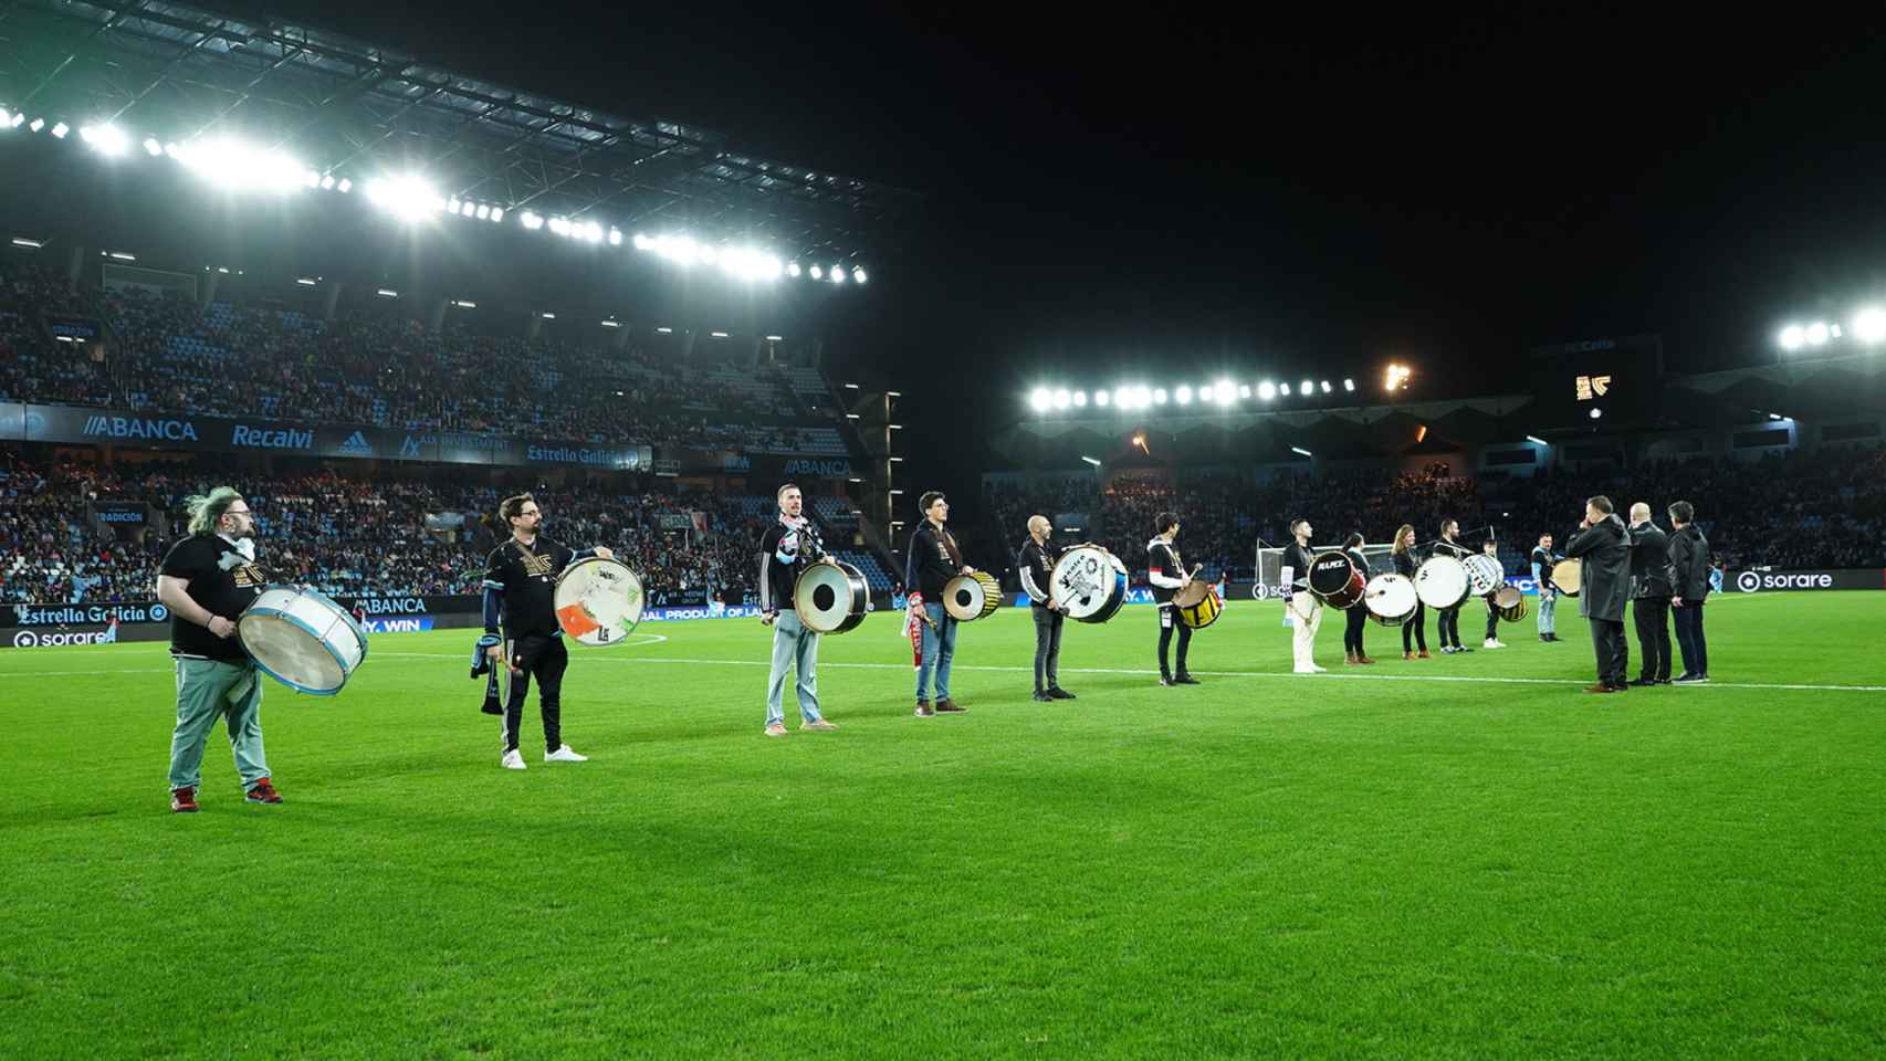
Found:
[[[55,343],[49,313],[104,324],[102,343]],[[392,313],[319,320],[290,309],[200,305],[87,290],[25,269],[0,277],[0,400],[151,413],[268,416],[528,441],[841,454],[769,362],[696,343],[620,347],[439,330]]]

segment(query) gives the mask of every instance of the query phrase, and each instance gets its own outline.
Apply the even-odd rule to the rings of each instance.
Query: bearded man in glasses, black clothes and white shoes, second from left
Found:
[[[583,763],[562,741],[564,669],[570,650],[556,624],[556,577],[570,563],[600,556],[615,560],[615,552],[598,545],[583,552],[539,537],[543,509],[530,494],[517,494],[498,503],[498,516],[511,528],[511,537],[490,550],[485,562],[485,633],[496,635],[504,626],[504,641],[485,650],[490,660],[504,661],[509,673],[509,695],[504,701],[504,756],[498,763],[507,771],[524,769],[517,750],[517,731],[524,720],[524,697],[530,678],[538,678],[538,707],[543,710],[543,761]]]

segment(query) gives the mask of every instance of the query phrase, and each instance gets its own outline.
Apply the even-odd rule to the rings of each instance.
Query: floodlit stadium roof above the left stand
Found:
[[[694,124],[628,119],[313,26],[185,4],[23,0],[0,15],[0,104],[136,136],[241,136],[321,173],[424,171],[507,211],[856,258],[918,196],[745,155]]]

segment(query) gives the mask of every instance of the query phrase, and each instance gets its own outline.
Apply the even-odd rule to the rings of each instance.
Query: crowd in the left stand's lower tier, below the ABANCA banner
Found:
[[[185,501],[230,481],[256,514],[272,579],[332,596],[477,594],[500,530],[500,490],[334,473],[245,479],[196,464],[34,467],[0,464],[0,601],[113,603],[151,599],[164,552],[187,533]],[[505,494],[509,490],[504,490]],[[545,535],[571,548],[607,545],[651,594],[741,601],[756,577],[766,511],[715,494],[587,488],[536,490]],[[143,503],[143,528],[102,528],[92,501]],[[764,499],[764,501],[769,501]]]

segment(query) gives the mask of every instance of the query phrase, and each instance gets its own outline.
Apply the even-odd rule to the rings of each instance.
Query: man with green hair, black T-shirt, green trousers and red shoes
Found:
[[[170,808],[196,810],[204,744],[228,718],[243,799],[281,803],[262,754],[262,682],[236,641],[236,616],[268,579],[255,565],[255,516],[230,486],[190,498],[190,533],[164,556],[157,599],[170,609],[170,656],[177,667],[177,729],[170,735]]]

